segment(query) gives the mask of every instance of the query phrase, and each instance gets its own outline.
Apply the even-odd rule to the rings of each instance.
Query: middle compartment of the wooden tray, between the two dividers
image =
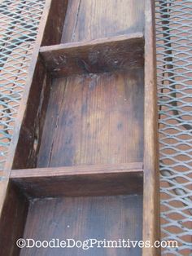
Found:
[[[49,56],[52,52],[51,55],[55,57],[49,60],[45,56],[45,60],[39,58],[13,169],[143,161],[142,33],[107,40],[97,40],[93,44],[100,49],[110,42],[113,45],[110,46],[111,55],[121,46],[128,51],[128,55],[120,55],[121,59],[124,58],[124,65],[112,67],[110,72],[101,72],[103,64],[100,66],[98,63],[95,71],[101,73],[83,73],[82,69],[78,75],[52,77],[47,63],[51,66],[49,61],[59,59],[59,51],[68,50],[68,54],[72,55],[76,49],[76,55],[80,56],[81,51],[77,49],[84,49],[82,53],[85,53],[85,59],[81,57],[81,60],[86,62],[87,56],[95,51],[92,42],[70,44],[69,48],[41,48],[41,55]],[[135,40],[138,45],[133,43]],[[130,42],[132,49],[129,48]],[[129,53],[132,50],[131,55],[134,55],[135,47],[139,61],[136,60],[136,66],[130,68]],[[49,50],[53,48],[56,50]],[[68,58],[74,65],[78,59]],[[37,90],[39,87],[41,90]]]

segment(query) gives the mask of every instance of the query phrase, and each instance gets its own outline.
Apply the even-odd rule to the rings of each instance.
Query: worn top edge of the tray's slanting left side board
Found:
[[[22,99],[20,101],[20,108],[18,110],[18,114],[17,114],[16,120],[15,120],[14,132],[13,132],[13,137],[11,139],[9,152],[7,155],[7,161],[3,168],[2,177],[0,179],[0,218],[2,215],[3,203],[4,203],[6,195],[7,195],[7,186],[9,183],[9,176],[11,174],[11,166],[12,166],[14,155],[15,155],[15,148],[18,143],[18,139],[19,139],[19,135],[20,135],[20,127],[21,127],[21,124],[22,124],[22,121],[24,118],[24,113],[25,113],[25,109],[26,109],[26,105],[27,105],[27,101],[28,101],[28,94],[29,94],[31,83],[33,81],[33,72],[36,67],[37,57],[39,54],[39,47],[41,46],[43,31],[46,26],[46,21],[47,21],[48,14],[50,11],[51,2],[52,2],[52,0],[46,0],[43,14],[41,16],[41,21],[40,21],[39,29],[38,29],[38,33],[37,33],[37,40],[36,40],[35,46],[33,48],[33,55],[32,55],[31,62],[29,64],[29,68],[28,68],[28,79],[24,86],[24,93],[23,93]]]

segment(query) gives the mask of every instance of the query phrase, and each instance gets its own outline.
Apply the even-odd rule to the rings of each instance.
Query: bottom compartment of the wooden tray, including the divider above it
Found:
[[[20,227],[13,232],[13,240],[18,237],[40,241],[50,241],[53,237],[142,240],[142,167],[142,162],[137,162],[11,170],[7,194],[14,200],[14,210],[20,213],[20,218],[14,211],[6,214]],[[63,248],[33,247],[21,249],[20,255],[60,255],[61,251]],[[110,251],[117,253],[114,248]],[[77,252],[85,255],[84,250],[64,249],[68,255]],[[99,252],[106,254],[105,249]],[[138,255],[142,249],[132,248],[129,252]],[[127,249],[120,249],[120,255],[126,254]],[[91,255],[98,255],[98,250],[91,250]]]

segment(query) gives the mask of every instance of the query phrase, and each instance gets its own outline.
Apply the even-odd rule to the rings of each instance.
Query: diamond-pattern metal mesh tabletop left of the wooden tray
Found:
[[[6,161],[44,4],[45,0],[0,1],[0,170]]]

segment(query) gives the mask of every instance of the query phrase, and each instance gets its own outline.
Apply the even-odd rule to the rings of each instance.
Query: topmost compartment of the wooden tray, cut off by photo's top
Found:
[[[52,1],[41,46],[142,33],[144,5],[142,0]]]

